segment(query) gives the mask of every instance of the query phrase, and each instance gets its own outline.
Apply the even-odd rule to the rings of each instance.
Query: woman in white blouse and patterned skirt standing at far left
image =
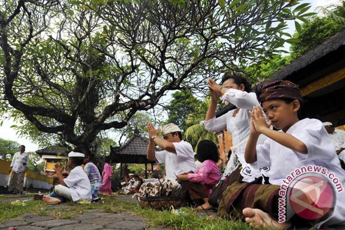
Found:
[[[8,190],[13,194],[23,194],[24,174],[28,170],[28,165],[29,154],[25,152],[25,146],[21,145],[19,146],[19,152],[14,153],[9,170],[9,173],[12,171],[12,176]]]

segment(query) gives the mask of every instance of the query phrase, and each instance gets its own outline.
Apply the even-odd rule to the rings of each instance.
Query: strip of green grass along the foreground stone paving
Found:
[[[133,211],[146,218],[151,227],[169,227],[177,230],[253,230],[247,223],[242,221],[228,221],[222,218],[199,217],[194,209],[182,208],[180,213],[170,211],[157,211],[154,209],[142,209],[137,204],[127,203],[116,199],[106,199],[105,203],[76,204],[65,203],[62,207],[55,206],[51,210],[42,201],[26,201],[26,206],[13,206],[10,203],[0,203],[0,222],[13,219],[23,213],[33,212],[39,216],[52,216],[56,219],[70,219],[75,215],[83,214],[89,209],[98,209],[108,213]],[[67,206],[66,206],[67,205]],[[59,207],[60,206],[60,207]],[[66,208],[67,207],[67,208]],[[257,230],[276,230],[276,228],[256,228]]]

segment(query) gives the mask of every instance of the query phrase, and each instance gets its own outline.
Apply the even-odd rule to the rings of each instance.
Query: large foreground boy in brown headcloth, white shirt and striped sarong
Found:
[[[283,180],[286,180],[296,169],[306,166],[321,166],[328,170],[327,173],[332,172],[336,175],[341,184],[345,182],[345,174],[322,122],[316,119],[298,119],[297,111],[300,109],[303,99],[294,83],[289,81],[266,83],[263,84],[259,93],[262,108],[255,106],[253,111],[250,111],[250,135],[245,151],[245,160],[256,168],[271,167],[267,173],[270,184],[248,185],[248,183],[239,184],[235,182],[223,193],[229,193],[228,199],[223,201],[225,202],[223,207],[226,206],[229,209],[240,207],[241,210],[236,211],[239,213],[242,211],[245,221],[258,226],[287,229],[292,224],[311,224],[316,228],[321,227],[322,224],[327,226],[343,224],[345,208],[342,203],[345,199],[345,192],[335,194],[335,207],[330,207],[320,218],[314,218],[317,216],[316,212],[312,213],[308,217],[309,219],[303,218],[300,211],[308,211],[309,206],[306,206],[305,209],[293,210],[291,221],[278,222],[277,198],[279,195],[283,197],[279,192],[280,186],[282,186]],[[268,123],[264,119],[262,109],[266,113]],[[279,131],[269,129],[270,125]],[[260,134],[264,134],[268,139],[263,144],[257,145]],[[334,184],[329,182],[328,184],[335,189]],[[294,180],[291,184],[293,183]],[[309,183],[309,186],[316,188],[313,182],[309,181]],[[315,202],[313,209],[319,208],[316,206],[317,196],[320,195],[316,191],[317,189],[315,189],[316,193],[313,197],[305,193],[302,187],[298,187],[298,189],[300,189],[298,192],[302,191],[307,197],[307,202]],[[286,194],[290,196],[292,193],[287,192]],[[285,199],[285,196],[283,198]],[[293,199],[292,196],[288,198]],[[236,199],[240,201],[236,201]]]

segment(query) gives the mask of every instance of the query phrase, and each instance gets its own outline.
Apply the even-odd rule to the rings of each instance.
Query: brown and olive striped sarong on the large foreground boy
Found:
[[[240,218],[244,220],[244,208],[257,208],[278,217],[278,199],[280,186],[272,184],[258,184],[260,179],[253,182],[234,182],[223,192],[223,199],[218,207],[218,216]]]

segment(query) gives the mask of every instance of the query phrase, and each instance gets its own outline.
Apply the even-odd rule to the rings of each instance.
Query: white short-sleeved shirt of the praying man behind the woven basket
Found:
[[[190,143],[186,141],[172,142],[175,146],[176,153],[166,150],[155,152],[158,163],[165,164],[166,177],[176,179],[176,175],[195,171],[194,151]]]

